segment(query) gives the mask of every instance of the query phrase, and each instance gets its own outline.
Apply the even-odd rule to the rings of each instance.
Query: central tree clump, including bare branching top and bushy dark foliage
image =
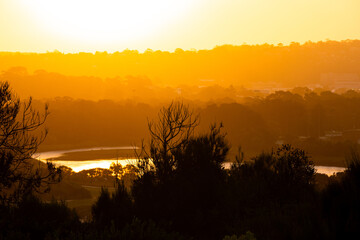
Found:
[[[163,108],[158,122],[149,124],[152,141],[145,160],[152,162],[146,162],[145,171],[134,182],[135,209],[143,219],[166,222],[170,230],[198,238],[221,237],[212,235],[222,227],[218,206],[229,146],[222,125],[195,136],[197,124],[182,103]]]

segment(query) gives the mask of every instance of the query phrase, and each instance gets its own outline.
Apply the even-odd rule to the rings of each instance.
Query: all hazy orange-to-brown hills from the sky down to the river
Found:
[[[223,122],[251,157],[282,143],[343,166],[360,140],[360,41],[224,45],[212,50],[0,53],[0,80],[50,105],[41,150],[128,146],[172,100]],[[41,108],[40,108],[41,109]],[[231,155],[231,154],[230,154]]]

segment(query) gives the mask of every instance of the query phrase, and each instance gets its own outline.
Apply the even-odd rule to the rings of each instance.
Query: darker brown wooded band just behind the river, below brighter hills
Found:
[[[295,89],[294,91],[300,91]],[[190,102],[200,115],[198,132],[222,122],[232,150],[241,146],[248,157],[282,143],[301,147],[319,165],[344,166],[343,157],[360,139],[360,93],[319,94],[279,91],[240,103]],[[49,135],[41,150],[89,146],[128,146],[148,140],[147,121],[158,106],[145,103],[90,101],[71,98],[48,100]],[[44,102],[34,101],[35,106]]]

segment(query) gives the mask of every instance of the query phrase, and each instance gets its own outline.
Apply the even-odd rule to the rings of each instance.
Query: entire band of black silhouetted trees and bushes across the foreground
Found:
[[[197,133],[198,117],[181,103],[162,108],[149,122],[151,141],[137,152],[131,187],[116,178],[115,192],[104,188],[92,219],[81,221],[65,203],[34,197],[61,179],[60,170],[48,164],[41,172],[30,164],[26,149],[40,144],[31,141],[31,128],[4,137],[13,126],[32,122],[16,125],[24,119],[21,108],[14,118],[6,117],[14,96],[8,85],[1,89],[6,94],[0,97],[7,98],[1,99],[0,239],[353,239],[360,234],[356,151],[347,170],[321,189],[310,157],[286,144],[246,162],[239,149],[225,170],[230,146],[222,124]],[[43,121],[33,113],[37,128]],[[13,138],[19,140],[16,147],[8,141]]]

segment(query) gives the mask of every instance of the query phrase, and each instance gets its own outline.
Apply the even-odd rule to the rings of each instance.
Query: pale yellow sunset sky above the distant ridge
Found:
[[[0,51],[174,51],[360,39],[359,13],[359,0],[0,0]]]

